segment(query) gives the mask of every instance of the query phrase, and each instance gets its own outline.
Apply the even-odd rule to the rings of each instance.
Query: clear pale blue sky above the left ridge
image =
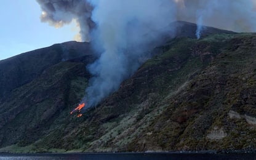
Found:
[[[76,24],[54,28],[42,23],[42,11],[35,0],[1,0],[0,60],[23,52],[73,41]]]

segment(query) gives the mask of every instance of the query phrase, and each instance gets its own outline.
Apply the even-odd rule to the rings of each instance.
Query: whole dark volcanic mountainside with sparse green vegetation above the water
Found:
[[[0,61],[0,152],[255,151],[256,34],[205,28],[195,39],[196,25],[176,24],[174,39],[80,118],[70,111],[96,58],[89,44]]]

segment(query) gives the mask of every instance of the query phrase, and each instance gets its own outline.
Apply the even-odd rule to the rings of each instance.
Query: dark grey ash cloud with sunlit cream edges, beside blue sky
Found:
[[[56,28],[76,20],[81,41],[90,41],[89,31],[94,26],[91,20],[92,6],[85,0],[36,0],[42,9],[41,21]]]

